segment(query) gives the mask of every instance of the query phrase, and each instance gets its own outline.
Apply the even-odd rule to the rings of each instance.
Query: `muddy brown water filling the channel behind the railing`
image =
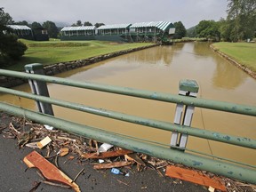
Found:
[[[177,94],[180,79],[194,79],[199,84],[198,98],[256,106],[256,80],[213,52],[207,43],[154,47],[77,68],[58,76],[172,94]],[[28,84],[17,86],[15,89],[30,92]],[[52,98],[173,123],[175,104],[172,103],[82,90],[58,84],[49,84],[49,92]],[[35,103],[31,100],[6,94],[0,95],[0,99],[24,108],[36,109]],[[79,124],[164,144],[170,143],[170,132],[56,106],[53,109],[55,116]],[[191,125],[200,129],[256,139],[254,116],[196,108]],[[256,165],[256,153],[252,149],[194,137],[188,138],[188,148]]]

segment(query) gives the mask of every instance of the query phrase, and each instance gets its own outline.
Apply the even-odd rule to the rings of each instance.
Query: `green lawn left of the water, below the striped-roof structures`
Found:
[[[44,65],[65,62],[70,60],[83,60],[101,54],[128,50],[149,44],[117,44],[102,41],[65,41],[51,40],[49,42],[35,42],[21,40],[27,44],[28,50],[20,61],[8,67],[11,70],[23,70],[29,63],[42,63]]]

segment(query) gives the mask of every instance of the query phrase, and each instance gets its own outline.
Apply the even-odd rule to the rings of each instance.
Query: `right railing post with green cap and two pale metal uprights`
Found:
[[[195,80],[180,80],[179,95],[196,97],[198,90],[199,86]],[[195,107],[189,105],[184,106],[183,104],[177,104],[174,117],[174,124],[190,126],[192,122],[194,108]],[[187,141],[188,134],[179,134],[178,132],[172,132],[171,148],[179,147],[180,150],[185,150]]]

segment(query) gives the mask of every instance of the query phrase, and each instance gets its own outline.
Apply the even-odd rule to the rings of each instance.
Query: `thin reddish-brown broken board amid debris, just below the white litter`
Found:
[[[116,151],[102,152],[99,155],[97,153],[91,153],[91,154],[86,153],[86,154],[82,154],[82,157],[91,158],[91,159],[102,159],[102,158],[109,158],[109,157],[115,157],[115,156],[124,156],[131,153],[133,153],[133,151],[131,150],[119,149]]]

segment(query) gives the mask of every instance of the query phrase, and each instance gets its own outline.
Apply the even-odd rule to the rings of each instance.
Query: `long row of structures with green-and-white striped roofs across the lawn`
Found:
[[[60,40],[100,40],[116,42],[170,42],[175,33],[174,25],[167,21],[140,22],[134,24],[65,27]]]

